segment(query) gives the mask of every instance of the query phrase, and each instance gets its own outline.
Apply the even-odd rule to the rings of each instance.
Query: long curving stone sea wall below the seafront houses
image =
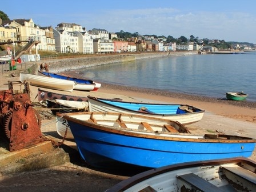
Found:
[[[57,73],[62,71],[74,71],[92,66],[106,65],[110,63],[130,62],[139,59],[150,59],[160,57],[174,57],[181,55],[197,54],[196,51],[177,51],[164,53],[139,53],[139,54],[118,54],[118,55],[99,55],[95,57],[79,57],[67,59],[55,59],[47,61],[50,65],[50,72]]]

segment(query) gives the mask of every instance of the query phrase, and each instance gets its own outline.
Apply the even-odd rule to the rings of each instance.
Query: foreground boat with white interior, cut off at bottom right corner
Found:
[[[238,157],[179,163],[134,175],[106,190],[116,191],[255,191],[256,162]]]

